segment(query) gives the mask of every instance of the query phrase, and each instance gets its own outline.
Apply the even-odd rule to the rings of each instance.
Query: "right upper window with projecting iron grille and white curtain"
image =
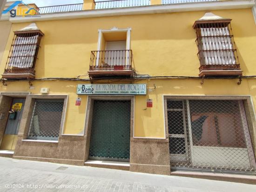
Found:
[[[231,19],[195,21],[200,71],[240,69],[230,22]]]

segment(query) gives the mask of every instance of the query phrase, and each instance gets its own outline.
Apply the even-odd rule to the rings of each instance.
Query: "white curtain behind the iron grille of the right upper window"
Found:
[[[228,27],[201,28],[201,35],[205,65],[236,64]]]

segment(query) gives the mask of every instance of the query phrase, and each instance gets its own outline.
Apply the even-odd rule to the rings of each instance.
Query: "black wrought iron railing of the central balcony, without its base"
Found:
[[[90,71],[133,70],[132,50],[92,51]]]

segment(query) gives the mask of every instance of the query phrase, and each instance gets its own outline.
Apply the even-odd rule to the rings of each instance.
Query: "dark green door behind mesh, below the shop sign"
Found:
[[[129,161],[131,101],[95,100],[89,159]]]

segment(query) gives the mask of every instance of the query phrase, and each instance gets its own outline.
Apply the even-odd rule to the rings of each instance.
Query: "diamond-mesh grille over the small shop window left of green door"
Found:
[[[39,100],[34,104],[28,139],[58,139],[63,100]]]

